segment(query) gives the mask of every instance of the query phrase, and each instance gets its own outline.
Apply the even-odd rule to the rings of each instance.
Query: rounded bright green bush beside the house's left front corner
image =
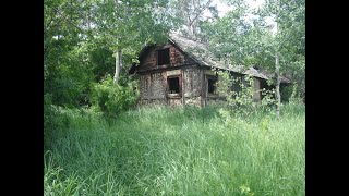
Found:
[[[93,86],[92,101],[107,117],[115,117],[119,112],[134,106],[139,99],[136,81],[128,81],[123,85],[113,84],[112,77],[106,78]]]

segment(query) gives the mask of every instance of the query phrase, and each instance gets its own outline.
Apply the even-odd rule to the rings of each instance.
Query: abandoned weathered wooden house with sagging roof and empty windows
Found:
[[[262,99],[261,89],[268,88],[266,81],[273,77],[272,73],[253,66],[225,66],[204,44],[177,34],[171,34],[165,45],[143,48],[139,60],[140,64],[133,64],[129,73],[140,76],[140,105],[204,107],[219,100],[215,87],[219,77],[212,69],[228,70],[234,77],[253,76],[256,101]],[[281,84],[289,83],[284,76],[280,79]]]

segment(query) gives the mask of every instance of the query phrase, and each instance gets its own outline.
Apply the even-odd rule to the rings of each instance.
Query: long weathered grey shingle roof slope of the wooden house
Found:
[[[179,34],[170,34],[168,39],[177,45],[182,51],[188,53],[191,58],[193,58],[198,64],[205,66],[213,66],[221,70],[228,70],[232,72],[237,72],[244,75],[251,75],[254,77],[260,77],[264,79],[270,79],[274,77],[274,73],[269,73],[266,70],[258,68],[255,69],[253,66],[245,68],[244,65],[225,65],[226,62],[219,60],[213,54],[207,45],[190,39],[188,37],[181,36]],[[280,75],[281,83],[290,83],[290,79]]]

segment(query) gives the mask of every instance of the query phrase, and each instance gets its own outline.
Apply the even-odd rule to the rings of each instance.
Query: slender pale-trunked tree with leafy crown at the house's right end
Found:
[[[258,12],[261,17],[274,19],[275,77],[276,77],[276,115],[280,112],[280,72],[287,73],[290,68],[303,60],[305,52],[305,1],[266,0]],[[296,39],[294,39],[296,38]],[[282,61],[280,62],[280,59]],[[281,69],[282,68],[282,69]],[[303,65],[305,68],[305,64]],[[302,68],[298,68],[301,70]]]

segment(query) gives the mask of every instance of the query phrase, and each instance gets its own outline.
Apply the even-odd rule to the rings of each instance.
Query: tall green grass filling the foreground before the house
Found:
[[[64,110],[45,152],[45,195],[305,195],[304,106],[260,112],[146,107],[113,122]]]

